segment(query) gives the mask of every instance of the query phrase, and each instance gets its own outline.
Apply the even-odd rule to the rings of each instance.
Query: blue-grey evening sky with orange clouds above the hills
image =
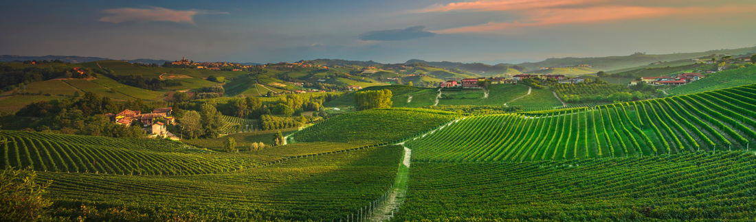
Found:
[[[756,1],[4,1],[0,54],[202,62],[553,57],[756,46]]]

